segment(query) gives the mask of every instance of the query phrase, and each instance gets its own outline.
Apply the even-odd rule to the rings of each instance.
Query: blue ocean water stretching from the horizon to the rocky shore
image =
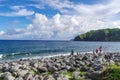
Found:
[[[50,41],[50,40],[0,40],[0,62],[69,55],[90,52],[103,47],[104,52],[120,52],[120,42]]]

